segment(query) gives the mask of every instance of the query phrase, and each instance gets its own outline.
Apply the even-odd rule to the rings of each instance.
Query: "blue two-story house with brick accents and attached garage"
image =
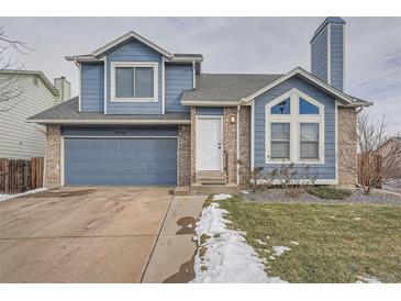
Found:
[[[344,26],[327,18],[316,30],[312,74],[202,74],[202,55],[172,54],[134,32],[67,56],[79,67],[79,97],[30,119],[47,125],[46,185],[237,190],[238,160],[292,161],[310,166],[316,183],[354,185],[337,157],[352,147],[356,164],[348,141],[357,109],[370,103],[343,92]]]

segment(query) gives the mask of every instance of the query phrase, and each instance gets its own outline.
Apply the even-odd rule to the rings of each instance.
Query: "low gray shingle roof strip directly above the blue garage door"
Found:
[[[113,121],[189,121],[189,113],[166,113],[166,114],[103,114],[102,112],[78,112],[78,97],[55,105],[46,111],[43,111],[27,121],[37,123],[56,123],[48,121],[92,121],[92,122],[113,122]]]

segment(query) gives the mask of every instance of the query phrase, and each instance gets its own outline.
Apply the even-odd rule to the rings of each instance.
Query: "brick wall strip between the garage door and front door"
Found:
[[[191,183],[191,126],[178,127],[178,186]]]

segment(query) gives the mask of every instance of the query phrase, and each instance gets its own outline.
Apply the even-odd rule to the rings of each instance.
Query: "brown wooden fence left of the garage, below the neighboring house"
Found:
[[[20,193],[43,187],[43,158],[0,159],[0,193]]]

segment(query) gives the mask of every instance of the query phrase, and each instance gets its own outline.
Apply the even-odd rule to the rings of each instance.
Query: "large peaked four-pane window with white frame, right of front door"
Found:
[[[324,105],[292,89],[266,104],[266,163],[324,163]]]

